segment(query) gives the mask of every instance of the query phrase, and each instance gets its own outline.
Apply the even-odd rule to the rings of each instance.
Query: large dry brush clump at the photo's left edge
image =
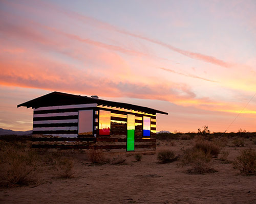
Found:
[[[0,141],[0,184],[3,187],[28,185],[37,180],[38,155],[22,143]]]

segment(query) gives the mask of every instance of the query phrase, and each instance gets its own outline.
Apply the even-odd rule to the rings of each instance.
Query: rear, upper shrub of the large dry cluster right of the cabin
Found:
[[[220,147],[209,141],[199,140],[196,142],[195,148],[201,149],[205,154],[210,154],[213,157],[217,157],[220,153]]]

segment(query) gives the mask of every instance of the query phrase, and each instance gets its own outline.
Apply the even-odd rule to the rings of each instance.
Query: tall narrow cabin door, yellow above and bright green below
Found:
[[[127,114],[127,151],[134,151],[135,115]]]

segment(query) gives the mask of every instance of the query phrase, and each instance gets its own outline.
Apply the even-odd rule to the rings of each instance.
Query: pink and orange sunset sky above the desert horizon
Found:
[[[17,105],[60,91],[168,112],[157,131],[256,132],[255,11],[254,0],[0,0],[0,127],[32,130],[33,110]]]

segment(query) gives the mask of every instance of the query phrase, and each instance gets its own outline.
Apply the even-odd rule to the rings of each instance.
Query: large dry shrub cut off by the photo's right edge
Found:
[[[256,175],[256,151],[245,149],[234,161],[234,168],[246,175]]]

